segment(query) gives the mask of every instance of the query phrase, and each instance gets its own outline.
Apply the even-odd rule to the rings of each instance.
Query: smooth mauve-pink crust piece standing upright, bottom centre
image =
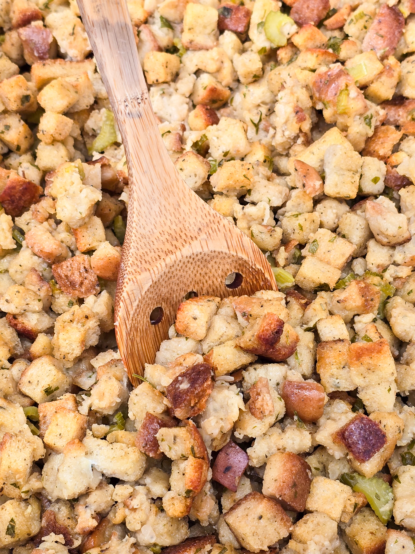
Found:
[[[248,461],[248,454],[245,450],[230,440],[216,456],[212,467],[212,479],[236,493]]]

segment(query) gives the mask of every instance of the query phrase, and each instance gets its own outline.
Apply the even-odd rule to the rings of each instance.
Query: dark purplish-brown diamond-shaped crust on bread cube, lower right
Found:
[[[333,434],[333,441],[343,444],[353,458],[363,463],[385,446],[386,434],[378,423],[358,414]]]

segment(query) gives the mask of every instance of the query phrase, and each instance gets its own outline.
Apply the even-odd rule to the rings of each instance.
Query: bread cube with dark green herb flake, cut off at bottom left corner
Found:
[[[8,500],[0,506],[0,547],[13,548],[22,545],[39,531],[40,500],[35,496],[29,501]]]

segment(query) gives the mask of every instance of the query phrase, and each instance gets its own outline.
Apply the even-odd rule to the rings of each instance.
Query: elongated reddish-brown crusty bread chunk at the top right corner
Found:
[[[363,39],[363,52],[375,50],[380,59],[391,56],[402,37],[404,27],[405,19],[400,10],[396,6],[382,4]]]

